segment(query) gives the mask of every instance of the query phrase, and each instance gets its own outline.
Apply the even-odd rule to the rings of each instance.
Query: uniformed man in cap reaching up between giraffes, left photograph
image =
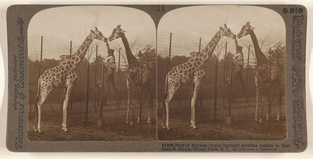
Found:
[[[111,85],[111,88],[113,89],[113,94],[115,94],[115,92],[117,92],[116,89],[116,85],[114,82],[114,72],[115,72],[115,57],[114,57],[114,50],[110,49],[110,46],[108,44],[108,42],[106,42],[106,48],[108,50],[108,60],[107,60],[107,68],[108,68],[108,75],[106,76],[106,80],[105,83],[107,84],[108,88],[110,87],[109,85]]]

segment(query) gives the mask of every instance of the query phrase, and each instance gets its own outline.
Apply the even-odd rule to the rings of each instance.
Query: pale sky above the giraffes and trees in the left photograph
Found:
[[[129,42],[140,35],[141,45],[156,46],[155,24],[143,11],[116,6],[56,7],[40,11],[31,19],[28,27],[30,56],[34,52],[37,54],[39,52],[40,57],[41,36],[44,36],[43,58],[58,59],[59,55],[68,55],[67,47],[70,41],[75,43],[73,47],[79,47],[90,34],[90,27],[95,22],[98,30],[107,38],[117,25],[121,25],[121,29],[126,31],[125,36]],[[110,46],[118,44],[123,46],[121,39],[109,41]],[[103,41],[100,42],[98,50],[100,52],[106,50]],[[107,55],[106,51],[105,55]]]

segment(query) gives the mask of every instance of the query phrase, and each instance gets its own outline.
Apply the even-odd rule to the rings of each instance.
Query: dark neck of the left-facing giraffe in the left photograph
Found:
[[[137,60],[137,58],[131,53],[131,48],[129,47],[129,43],[126,39],[126,36],[124,33],[121,33],[121,39],[125,47],[125,53],[126,53],[126,58],[128,62],[128,69],[134,68],[134,67],[139,67],[140,64]]]

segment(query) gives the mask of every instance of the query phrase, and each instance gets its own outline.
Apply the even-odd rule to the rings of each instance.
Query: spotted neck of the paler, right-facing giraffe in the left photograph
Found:
[[[94,37],[90,33],[89,36],[85,39],[85,41],[81,44],[81,46],[77,49],[76,53],[71,57],[74,60],[74,67],[80,65],[80,62],[84,59],[86,52],[92,42]]]

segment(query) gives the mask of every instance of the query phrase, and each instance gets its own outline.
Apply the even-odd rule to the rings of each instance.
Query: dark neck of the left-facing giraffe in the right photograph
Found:
[[[258,40],[256,39],[256,36],[254,34],[253,30],[249,30],[249,34],[251,36],[251,40],[253,42],[253,46],[254,46],[254,52],[255,52],[255,58],[256,58],[256,63],[257,65],[264,65],[264,64],[268,64],[268,60],[265,57],[265,55],[262,53]]]

